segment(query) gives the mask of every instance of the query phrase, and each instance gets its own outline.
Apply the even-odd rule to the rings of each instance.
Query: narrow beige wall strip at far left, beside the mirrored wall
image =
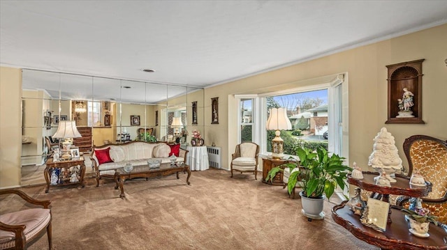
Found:
[[[20,185],[22,70],[0,67],[0,188]]]

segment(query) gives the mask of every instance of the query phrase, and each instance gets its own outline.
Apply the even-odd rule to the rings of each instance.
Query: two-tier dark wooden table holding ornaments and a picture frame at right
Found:
[[[388,202],[390,194],[420,197],[431,192],[430,182],[427,182],[426,187],[411,188],[409,178],[404,175],[396,175],[397,182],[393,183],[391,187],[375,185],[374,177],[378,175],[379,173],[363,172],[364,178],[361,180],[348,175],[348,182],[361,189],[374,192],[372,196],[382,198],[386,202]],[[446,227],[445,225],[430,224],[430,237],[416,237],[409,233],[409,222],[405,221],[404,213],[400,211],[401,208],[392,205],[388,212],[386,231],[379,232],[364,226],[360,222],[360,216],[354,214],[346,203],[347,201],[344,201],[332,208],[332,218],[362,241],[374,244],[381,249],[447,249],[447,229],[443,228]]]

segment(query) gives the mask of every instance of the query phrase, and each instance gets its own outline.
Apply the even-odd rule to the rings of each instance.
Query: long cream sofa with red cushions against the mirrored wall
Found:
[[[145,141],[94,146],[91,150],[90,159],[96,172],[96,187],[99,186],[99,179],[103,177],[113,178],[115,169],[128,163],[133,166],[145,165],[148,159],[161,159],[161,163],[170,162],[171,147],[173,145],[166,142],[147,143]],[[176,162],[185,162],[188,150],[179,148],[178,144],[177,148],[179,153]]]

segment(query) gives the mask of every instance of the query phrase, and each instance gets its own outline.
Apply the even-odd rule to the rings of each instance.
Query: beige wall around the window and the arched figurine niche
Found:
[[[349,157],[367,168],[372,139],[381,127],[395,136],[400,157],[407,166],[402,150],[404,139],[426,134],[447,139],[447,24],[406,36],[376,42],[305,63],[266,72],[254,77],[205,89],[206,138],[223,149],[222,165],[228,168],[237,141],[237,101],[235,93],[264,93],[280,88],[305,86],[306,79],[347,72],[349,76]],[[425,58],[423,63],[423,120],[425,125],[385,124],[387,120],[386,65]],[[289,84],[293,83],[293,84]],[[274,86],[273,88],[271,86]],[[265,89],[263,89],[265,88]],[[219,125],[210,125],[210,98],[219,97]]]

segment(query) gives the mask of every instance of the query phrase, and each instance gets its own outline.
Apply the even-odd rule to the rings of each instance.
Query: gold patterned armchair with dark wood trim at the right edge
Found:
[[[439,221],[447,224],[447,141],[413,135],[405,139],[404,153],[409,163],[409,176],[419,173],[432,182],[432,192],[422,197],[423,208],[428,208]],[[409,197],[397,198],[396,204],[407,208]]]

